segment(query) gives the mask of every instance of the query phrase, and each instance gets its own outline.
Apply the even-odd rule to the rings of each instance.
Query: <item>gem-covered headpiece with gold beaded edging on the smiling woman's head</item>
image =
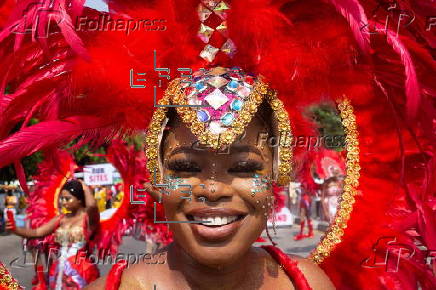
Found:
[[[160,180],[158,140],[168,110],[164,105],[178,105],[177,114],[201,145],[223,150],[244,132],[263,101],[271,106],[278,121],[280,143],[277,183],[289,184],[292,134],[288,113],[274,90],[260,78],[246,74],[239,68],[202,69],[193,74],[191,84],[183,78],[171,81],[164,97],[158,101],[163,107],[156,109],[147,131],[148,170],[151,174],[156,173],[156,180]]]

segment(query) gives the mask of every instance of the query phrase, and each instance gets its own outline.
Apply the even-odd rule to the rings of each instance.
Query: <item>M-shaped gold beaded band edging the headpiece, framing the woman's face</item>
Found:
[[[204,124],[196,117],[196,111],[188,107],[187,98],[181,86],[181,79],[170,82],[164,97],[159,100],[159,105],[179,105],[176,111],[183,122],[190,128],[191,132],[198,138],[201,145],[213,149],[222,149],[232,144],[241,135],[250,123],[259,105],[266,100],[278,120],[278,132],[280,137],[278,150],[278,176],[279,185],[287,185],[290,182],[291,159],[292,159],[292,135],[288,113],[282,101],[277,98],[277,93],[270,89],[267,84],[257,81],[253,91],[244,103],[241,113],[233,123],[232,127],[222,134],[212,134]],[[168,107],[158,107],[154,112],[146,136],[145,153],[147,156],[147,168],[152,176],[152,181],[160,181],[159,172],[159,136],[162,134],[162,124],[166,119]]]

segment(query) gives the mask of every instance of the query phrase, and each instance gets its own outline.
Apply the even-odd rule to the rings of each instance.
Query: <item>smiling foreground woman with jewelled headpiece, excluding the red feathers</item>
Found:
[[[147,135],[148,168],[169,189],[148,185],[163,203],[174,235],[174,242],[162,249],[168,264],[139,264],[124,273],[115,268],[106,287],[117,281],[112,289],[333,288],[312,262],[290,258],[273,246],[252,246],[275,205],[272,187],[289,178],[284,162],[289,144],[258,142],[262,134],[289,132],[289,120],[278,110],[281,101],[260,79],[237,68],[215,67],[194,76],[191,86],[184,86],[183,79],[170,85],[161,104],[181,106],[156,110]],[[224,101],[218,100],[220,94]],[[183,105],[194,102],[200,106]],[[238,102],[241,107],[234,105]],[[198,141],[205,146],[202,150],[195,147]],[[89,289],[104,284],[99,281]]]

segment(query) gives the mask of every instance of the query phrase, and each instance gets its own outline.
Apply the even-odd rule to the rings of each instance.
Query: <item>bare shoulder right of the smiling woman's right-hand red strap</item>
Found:
[[[294,255],[289,256],[298,262],[298,268],[303,272],[312,289],[336,289],[326,273],[317,264],[306,258]]]

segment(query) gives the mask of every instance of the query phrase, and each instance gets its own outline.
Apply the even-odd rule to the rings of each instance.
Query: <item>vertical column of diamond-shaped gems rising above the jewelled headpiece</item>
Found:
[[[213,62],[220,51],[229,57],[236,53],[236,46],[228,38],[227,12],[230,6],[224,1],[204,0],[198,5],[200,29],[197,36],[205,43],[200,57]]]

